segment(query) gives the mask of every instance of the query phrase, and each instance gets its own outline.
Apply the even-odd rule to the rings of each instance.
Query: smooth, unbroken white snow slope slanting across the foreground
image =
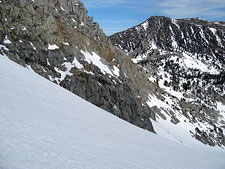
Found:
[[[137,128],[0,55],[1,169],[224,169],[225,152]]]

